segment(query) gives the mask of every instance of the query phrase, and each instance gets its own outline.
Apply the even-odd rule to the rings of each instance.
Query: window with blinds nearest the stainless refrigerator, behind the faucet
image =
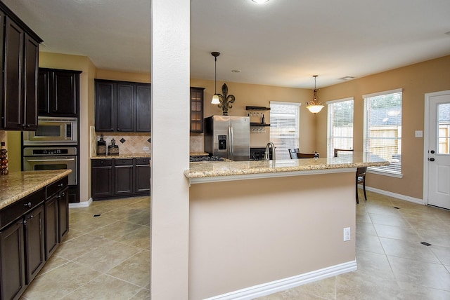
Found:
[[[270,102],[270,140],[276,159],[290,159],[289,149],[299,148],[300,103]]]

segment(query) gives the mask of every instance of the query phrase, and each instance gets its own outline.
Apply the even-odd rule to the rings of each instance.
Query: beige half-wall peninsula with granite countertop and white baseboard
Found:
[[[356,168],[387,164],[358,153],[191,163],[189,299],[251,299],[356,270]]]

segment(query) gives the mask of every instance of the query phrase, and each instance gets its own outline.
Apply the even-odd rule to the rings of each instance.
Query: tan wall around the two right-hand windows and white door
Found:
[[[415,137],[415,130],[424,129],[425,93],[450,89],[450,56],[413,64],[380,74],[354,79],[346,83],[322,88],[322,102],[354,97],[354,149],[363,150],[364,101],[362,95],[403,89],[402,104],[402,174],[394,178],[369,174],[366,184],[376,189],[423,198],[423,141]],[[316,146],[326,153],[327,111],[317,114]]]

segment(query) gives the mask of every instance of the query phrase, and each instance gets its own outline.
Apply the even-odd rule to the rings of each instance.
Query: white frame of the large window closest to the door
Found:
[[[364,131],[363,131],[363,149],[364,152],[371,152],[370,149],[368,149],[368,101],[369,98],[372,97],[378,97],[378,96],[383,96],[383,95],[390,95],[390,94],[395,94],[395,93],[401,93],[401,113],[403,112],[403,89],[402,88],[397,88],[394,90],[385,90],[383,92],[378,92],[378,93],[371,93],[371,94],[367,94],[367,95],[363,95],[363,101],[364,101]],[[397,125],[398,126],[398,125]],[[395,171],[393,170],[393,168],[390,168],[389,165],[386,166],[378,166],[378,167],[368,167],[367,170],[368,172],[374,173],[374,174],[378,174],[378,175],[384,175],[384,176],[390,176],[390,177],[397,177],[397,178],[402,178],[403,177],[403,173],[402,173],[402,165],[401,165],[401,154],[403,151],[403,138],[401,136],[401,131],[403,130],[403,118],[401,118],[401,124],[399,125],[399,132],[400,132],[400,137],[397,137],[397,144],[399,144],[400,147],[400,162],[399,162],[399,171]]]

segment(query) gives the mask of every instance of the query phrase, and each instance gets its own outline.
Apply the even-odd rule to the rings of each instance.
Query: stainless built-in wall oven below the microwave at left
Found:
[[[24,171],[67,169],[72,169],[69,185],[77,185],[77,147],[25,147],[23,149]]]

